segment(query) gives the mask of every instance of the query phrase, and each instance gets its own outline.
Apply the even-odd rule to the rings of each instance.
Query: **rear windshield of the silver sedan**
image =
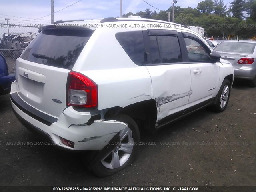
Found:
[[[222,42],[214,48],[215,51],[253,53],[255,43],[245,42]]]

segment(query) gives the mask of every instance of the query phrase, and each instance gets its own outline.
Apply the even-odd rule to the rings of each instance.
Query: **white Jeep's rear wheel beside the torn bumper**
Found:
[[[128,124],[128,127],[119,132],[120,141],[117,148],[92,168],[92,173],[98,177],[110,176],[126,168],[135,160],[138,153],[139,145],[136,143],[140,141],[140,132],[136,122],[123,114],[114,119]]]

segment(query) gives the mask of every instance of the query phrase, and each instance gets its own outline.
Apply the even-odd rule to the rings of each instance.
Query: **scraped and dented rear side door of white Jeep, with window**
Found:
[[[182,41],[176,30],[148,29],[143,33],[157,122],[162,123],[167,116],[174,119],[184,113],[190,96],[190,68],[184,63]]]

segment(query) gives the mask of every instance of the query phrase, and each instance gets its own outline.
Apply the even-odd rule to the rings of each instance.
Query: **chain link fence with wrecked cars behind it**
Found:
[[[0,22],[0,54],[8,64],[10,72],[15,70],[16,59],[38,34],[43,24],[4,24]]]

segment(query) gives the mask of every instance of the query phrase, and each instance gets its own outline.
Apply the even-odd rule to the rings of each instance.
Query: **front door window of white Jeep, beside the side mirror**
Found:
[[[199,41],[190,38],[184,38],[188,50],[188,59],[190,62],[209,62],[210,53],[206,46]]]

